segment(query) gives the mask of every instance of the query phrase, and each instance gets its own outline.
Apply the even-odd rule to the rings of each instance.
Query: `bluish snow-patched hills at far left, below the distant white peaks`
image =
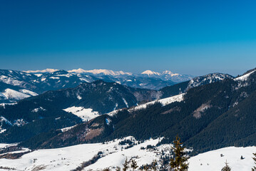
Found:
[[[22,71],[0,70],[0,92],[2,94],[0,103],[14,103],[17,100],[38,95],[47,90],[73,88],[81,83],[95,80],[97,78],[92,76],[81,76],[81,74],[68,73],[67,71],[25,73]]]

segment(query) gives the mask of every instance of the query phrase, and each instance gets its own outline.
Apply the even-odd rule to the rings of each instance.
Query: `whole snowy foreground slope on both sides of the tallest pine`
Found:
[[[132,137],[124,139],[132,140],[135,144],[138,143]],[[130,148],[127,148],[128,144],[119,144],[124,139],[104,144],[83,144],[57,149],[36,150],[23,155],[19,159],[0,159],[0,167],[9,167],[14,170],[73,170],[81,163],[91,160],[98,152],[102,152],[100,159],[83,168],[83,170],[103,170],[106,167],[115,170],[116,166],[122,167],[126,157],[128,160],[136,160],[140,166],[150,164],[153,160],[160,160],[163,153],[164,155],[170,155],[171,145],[160,145],[155,149],[146,148],[148,145],[156,145],[159,139],[146,140]],[[6,144],[0,144],[0,147],[4,146]],[[189,171],[221,170],[226,160],[232,167],[232,171],[251,170],[254,165],[252,152],[256,152],[256,147],[226,147],[205,152],[190,158]],[[221,154],[224,156],[220,157]],[[240,159],[241,155],[244,157],[243,160]]]

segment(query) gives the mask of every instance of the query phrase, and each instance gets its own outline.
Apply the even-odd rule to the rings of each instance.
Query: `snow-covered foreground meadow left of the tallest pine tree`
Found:
[[[130,140],[133,138],[128,137],[125,139]],[[36,150],[16,160],[0,159],[0,166],[11,167],[16,170],[35,170],[35,168],[39,167],[45,170],[72,170],[80,166],[82,162],[91,160],[98,152],[103,152],[103,156],[105,155],[105,157],[101,157],[96,163],[84,169],[101,170],[105,167],[122,167],[126,157],[128,160],[134,158],[138,162],[138,165],[151,163],[154,159],[158,158],[157,156],[160,152],[156,153],[153,150],[140,149],[140,147],[147,147],[147,145],[156,145],[159,141],[158,139],[147,140],[128,149],[125,149],[128,145],[118,144],[122,140],[124,139],[106,142],[104,144],[83,144],[57,149]]]

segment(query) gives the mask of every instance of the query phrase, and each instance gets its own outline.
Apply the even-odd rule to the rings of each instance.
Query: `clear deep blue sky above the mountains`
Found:
[[[0,68],[237,75],[256,67],[256,1],[0,1]]]

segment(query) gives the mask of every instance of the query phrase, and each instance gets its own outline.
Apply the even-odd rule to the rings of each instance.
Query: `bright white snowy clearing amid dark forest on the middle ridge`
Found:
[[[93,111],[93,109],[91,108],[72,106],[70,108],[66,108],[63,110],[65,110],[66,112],[73,113],[73,115],[77,115],[83,121],[89,121],[99,116],[99,113],[97,111]]]

